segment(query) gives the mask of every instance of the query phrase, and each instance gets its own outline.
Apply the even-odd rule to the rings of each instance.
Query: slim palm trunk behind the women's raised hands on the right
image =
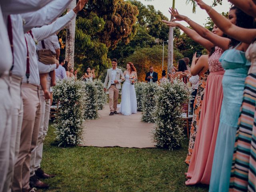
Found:
[[[172,0],[172,8],[175,8],[175,0]],[[171,16],[171,20],[174,16]],[[169,38],[168,38],[168,65],[167,72],[170,73],[173,67],[173,27],[169,28]]]

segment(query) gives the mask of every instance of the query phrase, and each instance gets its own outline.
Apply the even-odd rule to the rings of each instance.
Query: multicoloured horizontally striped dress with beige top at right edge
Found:
[[[248,47],[246,58],[251,67],[238,120],[230,191],[256,191],[256,42]]]

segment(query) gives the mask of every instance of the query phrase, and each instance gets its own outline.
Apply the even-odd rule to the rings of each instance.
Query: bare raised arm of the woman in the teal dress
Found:
[[[227,50],[229,47],[229,42],[230,39],[228,38],[224,38],[222,36],[218,36],[212,32],[210,32],[208,29],[206,29],[205,27],[197,24],[196,22],[192,21],[190,18],[188,18],[187,16],[184,15],[180,15],[178,13],[177,10],[174,10],[173,8],[170,9],[169,11],[174,17],[175,19],[173,19],[172,21],[186,21],[200,36],[202,36],[203,38],[209,40],[210,42],[212,42],[214,45],[222,48],[223,50]]]

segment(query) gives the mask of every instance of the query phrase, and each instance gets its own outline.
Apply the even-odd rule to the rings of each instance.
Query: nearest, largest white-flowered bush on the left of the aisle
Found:
[[[85,128],[84,82],[65,79],[57,81],[53,94],[60,101],[60,106],[54,120],[58,146],[78,145],[82,142]]]

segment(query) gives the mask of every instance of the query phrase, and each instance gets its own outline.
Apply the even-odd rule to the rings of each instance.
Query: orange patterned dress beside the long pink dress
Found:
[[[198,90],[194,101],[194,112],[193,112],[193,118],[191,123],[191,129],[190,129],[190,137],[189,137],[189,144],[188,144],[188,154],[186,157],[186,164],[190,164],[190,158],[194,149],[194,144],[196,140],[196,133],[197,133],[197,126],[200,119],[201,114],[201,106],[202,102],[204,100],[204,90],[206,87],[206,80],[208,78],[208,75],[210,74],[210,71],[201,71],[199,76],[199,84],[198,84]]]

